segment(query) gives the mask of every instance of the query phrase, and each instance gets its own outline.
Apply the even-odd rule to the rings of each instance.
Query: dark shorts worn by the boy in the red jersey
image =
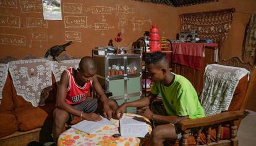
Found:
[[[79,111],[83,111],[84,113],[94,113],[98,107],[98,99],[88,97],[82,103],[74,105],[73,107]],[[69,120],[67,120],[67,123],[70,123],[72,120],[74,120],[74,115],[69,114]]]

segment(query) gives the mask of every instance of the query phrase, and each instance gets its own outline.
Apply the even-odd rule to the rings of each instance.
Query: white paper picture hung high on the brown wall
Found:
[[[62,20],[61,0],[42,0],[43,18],[45,20]]]

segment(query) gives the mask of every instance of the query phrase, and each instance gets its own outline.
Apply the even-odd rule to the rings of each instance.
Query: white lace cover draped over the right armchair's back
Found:
[[[207,65],[203,76],[203,91],[200,95],[205,115],[215,115],[228,110],[239,79],[249,73],[245,68]]]

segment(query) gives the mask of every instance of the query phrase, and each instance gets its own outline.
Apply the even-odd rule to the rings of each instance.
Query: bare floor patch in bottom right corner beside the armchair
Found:
[[[239,146],[256,145],[256,112],[250,112],[241,122],[237,132]]]

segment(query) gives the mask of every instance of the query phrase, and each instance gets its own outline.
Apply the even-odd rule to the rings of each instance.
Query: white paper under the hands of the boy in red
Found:
[[[103,118],[101,116],[101,121],[87,121],[83,120],[77,124],[72,125],[72,128],[78,129],[82,132],[85,132],[87,134],[92,134],[93,132],[97,131],[98,129],[103,128],[103,126],[109,125],[112,123],[111,120],[108,120],[107,118]]]

